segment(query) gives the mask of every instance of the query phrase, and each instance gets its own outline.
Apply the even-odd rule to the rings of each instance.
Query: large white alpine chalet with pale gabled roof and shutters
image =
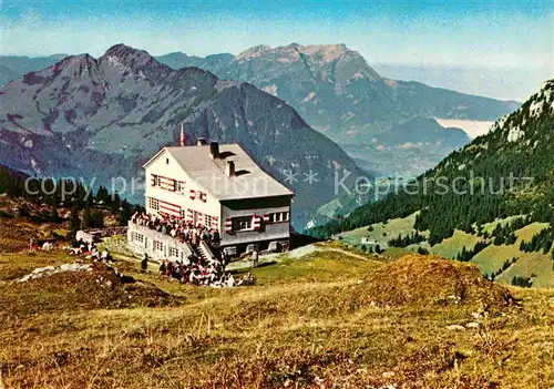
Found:
[[[196,145],[162,149],[143,165],[148,215],[173,217],[219,233],[219,247],[230,256],[287,249],[294,193],[264,172],[238,144],[203,139]],[[136,253],[184,259],[194,250],[168,235],[129,224]],[[153,236],[154,234],[154,236]]]

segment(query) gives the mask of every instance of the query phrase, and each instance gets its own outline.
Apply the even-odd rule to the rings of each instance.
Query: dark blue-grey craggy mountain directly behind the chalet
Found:
[[[0,89],[0,162],[34,174],[100,183],[141,176],[143,162],[177,143],[183,122],[188,144],[199,136],[238,142],[281,182],[294,174],[293,222],[300,227],[332,198],[335,172],[362,174],[276,96],[197,68],[173,70],[123,44],[27,73]],[[317,180],[306,182],[306,174]]]

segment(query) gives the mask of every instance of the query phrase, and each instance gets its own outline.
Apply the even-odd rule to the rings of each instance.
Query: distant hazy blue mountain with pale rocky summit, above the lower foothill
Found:
[[[297,108],[315,129],[347,137],[373,136],[417,115],[496,120],[519,106],[382,78],[345,44],[259,45],[236,57],[176,52],[157,59],[174,69],[197,66],[220,79],[249,82]]]

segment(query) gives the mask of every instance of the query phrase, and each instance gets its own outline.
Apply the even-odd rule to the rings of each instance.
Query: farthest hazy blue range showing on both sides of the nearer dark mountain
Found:
[[[6,78],[41,65],[52,65],[63,54],[48,58],[0,58]],[[499,101],[427,86],[418,82],[381,76],[358,52],[345,44],[270,48],[258,45],[238,55],[205,58],[174,52],[156,60],[177,70],[195,66],[219,79],[250,83],[290,104],[315,130],[334,140],[358,164],[375,174],[418,175],[469,142],[460,136],[447,141],[452,131],[437,132],[433,117],[493,121],[515,110],[517,102]],[[34,61],[34,62],[33,62]],[[35,65],[35,69],[31,69]],[[10,75],[11,74],[11,75]],[[409,130],[408,130],[409,129]],[[376,143],[380,134],[387,145]],[[399,139],[414,132],[410,150]],[[439,144],[429,147],[429,144]]]

